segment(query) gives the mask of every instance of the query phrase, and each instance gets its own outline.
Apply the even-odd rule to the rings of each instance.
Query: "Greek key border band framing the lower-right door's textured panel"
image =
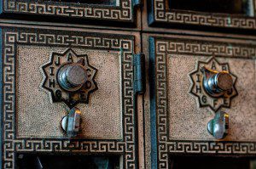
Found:
[[[156,136],[158,168],[168,168],[169,154],[256,155],[256,142],[184,141],[169,138],[167,65],[168,54],[215,55],[255,59],[256,46],[230,43],[154,38]],[[250,55],[253,54],[253,55]],[[252,57],[253,56],[253,57]]]

